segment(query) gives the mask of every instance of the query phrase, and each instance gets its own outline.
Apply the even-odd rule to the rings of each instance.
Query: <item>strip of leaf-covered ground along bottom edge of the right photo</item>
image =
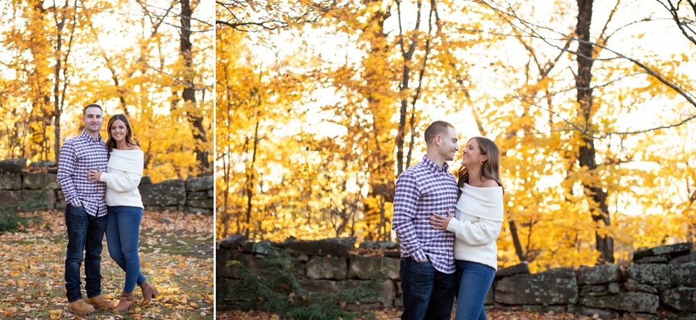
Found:
[[[401,319],[401,309],[386,308],[383,310],[373,311],[374,317],[383,320],[398,320]],[[576,316],[569,313],[537,313],[527,311],[513,310],[487,310],[486,316],[490,320],[596,320],[597,317]],[[216,312],[216,319],[223,320],[280,320],[275,314],[267,314],[265,312],[241,312],[237,310],[226,310]],[[454,319],[454,312],[452,312]]]

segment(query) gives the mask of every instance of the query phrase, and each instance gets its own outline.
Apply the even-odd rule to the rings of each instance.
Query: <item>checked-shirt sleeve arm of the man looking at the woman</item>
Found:
[[[402,173],[396,181],[392,230],[396,231],[399,236],[401,250],[416,261],[423,262],[427,257],[418,240],[416,228],[413,227],[413,217],[416,216],[420,198],[418,193],[416,179],[409,174]]]

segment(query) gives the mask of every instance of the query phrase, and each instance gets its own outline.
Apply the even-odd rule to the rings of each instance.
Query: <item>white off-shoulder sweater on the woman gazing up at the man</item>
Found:
[[[503,187],[477,188],[464,184],[455,218],[447,230],[454,232],[454,259],[478,262],[498,270],[496,239],[503,227]]]

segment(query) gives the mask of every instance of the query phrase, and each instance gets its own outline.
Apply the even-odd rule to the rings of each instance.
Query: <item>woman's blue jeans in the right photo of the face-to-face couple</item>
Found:
[[[496,269],[485,264],[455,260],[457,265],[457,312],[456,320],[486,320],[484,301],[491,289]]]

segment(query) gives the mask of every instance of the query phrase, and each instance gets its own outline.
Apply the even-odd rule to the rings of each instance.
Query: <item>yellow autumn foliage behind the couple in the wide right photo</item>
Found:
[[[317,13],[310,3],[250,6],[258,15],[219,10],[219,238],[395,241],[395,179],[425,154],[429,122],[448,120],[461,145],[480,135],[500,147],[500,266],[593,265],[600,238],[613,241],[620,264],[638,248],[696,240],[695,106],[665,85],[693,93],[693,72],[674,59],[693,62],[647,48],[665,33],[679,40],[674,26],[614,34],[606,24],[593,35],[602,47],[583,109],[576,22],[567,19],[578,8],[567,1],[444,1],[437,14],[427,3],[363,1],[311,20],[298,14]],[[613,10],[599,19],[625,19],[631,8]],[[253,24],[264,21],[277,27]],[[580,165],[588,150],[592,166]]]

